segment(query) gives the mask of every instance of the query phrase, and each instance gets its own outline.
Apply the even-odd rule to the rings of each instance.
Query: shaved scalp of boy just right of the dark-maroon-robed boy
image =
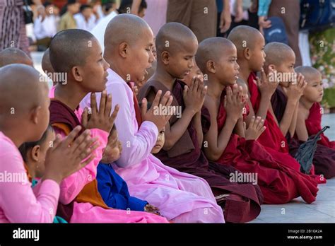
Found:
[[[231,49],[235,49],[235,45],[224,37],[209,37],[199,44],[196,52],[196,64],[199,69],[206,73],[206,64],[208,60],[218,62],[222,57],[226,56]]]

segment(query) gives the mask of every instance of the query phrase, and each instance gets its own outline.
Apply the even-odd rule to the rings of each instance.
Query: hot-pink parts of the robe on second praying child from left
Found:
[[[54,98],[54,87],[49,92],[49,98]],[[75,114],[81,122],[83,110],[79,107],[75,110]],[[64,131],[55,129],[57,134],[65,137]],[[59,201],[62,204],[69,204],[81,192],[81,189],[95,179],[97,175],[97,167],[102,158],[102,149],[107,144],[108,133],[100,129],[90,129],[93,137],[97,136],[100,146],[95,151],[95,158],[86,167],[78,170],[74,174],[66,177],[60,185]],[[126,211],[119,209],[103,209],[92,204],[78,203],[74,201],[74,210],[70,223],[167,223],[167,219],[157,216],[153,213],[142,211]]]

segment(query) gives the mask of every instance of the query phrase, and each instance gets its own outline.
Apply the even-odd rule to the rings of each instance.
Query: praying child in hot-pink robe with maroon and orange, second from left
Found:
[[[79,40],[79,41],[78,41]],[[59,215],[70,222],[167,222],[151,213],[110,209],[98,192],[95,179],[102,149],[107,143],[118,106],[112,110],[112,97],[104,91],[97,109],[95,92],[105,90],[107,68],[98,40],[85,30],[64,30],[54,36],[50,44],[50,61],[54,71],[66,73],[66,83],[58,83],[51,90],[50,123],[55,131],[66,136],[69,129],[81,125],[98,136],[101,146],[86,168],[71,175],[61,184]],[[84,112],[79,102],[91,94],[92,112]]]

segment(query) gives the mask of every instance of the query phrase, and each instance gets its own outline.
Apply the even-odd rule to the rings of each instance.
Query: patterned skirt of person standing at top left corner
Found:
[[[0,1],[0,51],[8,47],[16,47],[30,54],[23,0]]]

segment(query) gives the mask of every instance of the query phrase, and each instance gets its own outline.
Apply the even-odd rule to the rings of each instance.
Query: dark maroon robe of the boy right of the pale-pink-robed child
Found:
[[[172,95],[174,97],[172,106],[181,106],[184,110],[182,99],[184,83],[175,81]],[[139,92],[139,99],[142,100],[150,91],[157,93],[162,90],[162,94],[167,88],[158,81],[148,81]],[[177,121],[177,117],[170,119],[170,125]],[[173,151],[173,153],[171,153]],[[199,148],[196,130],[193,122],[190,122],[187,131],[177,141],[170,151],[160,150],[155,154],[165,165],[176,168],[181,172],[188,172],[204,178],[211,186],[213,193],[218,196],[229,194],[222,204],[225,214],[225,221],[233,223],[243,223],[251,221],[260,213],[260,204],[263,196],[257,185],[251,183],[230,182],[230,174],[237,173],[233,167],[218,165],[208,162],[204,152]]]

